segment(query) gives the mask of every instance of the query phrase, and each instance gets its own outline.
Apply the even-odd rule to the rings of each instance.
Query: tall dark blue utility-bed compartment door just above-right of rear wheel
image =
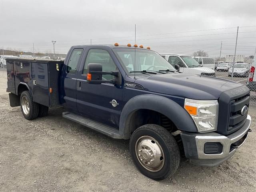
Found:
[[[33,101],[50,106],[48,64],[32,62]]]

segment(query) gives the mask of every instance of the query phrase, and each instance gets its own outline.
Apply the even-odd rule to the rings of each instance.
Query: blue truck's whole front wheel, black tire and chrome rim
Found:
[[[180,151],[172,134],[155,124],[136,129],[130,138],[135,166],[145,176],[162,180],[173,175],[180,164]]]

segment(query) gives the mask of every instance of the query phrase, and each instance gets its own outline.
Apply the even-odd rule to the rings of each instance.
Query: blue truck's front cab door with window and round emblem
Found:
[[[80,65],[76,85],[76,106],[78,112],[92,120],[118,128],[122,110],[122,88],[111,83],[88,84],[87,67],[89,63],[102,64],[103,71],[116,71],[118,68],[110,53],[104,49],[90,49]],[[110,80],[113,76],[102,75],[102,80]],[[112,105],[116,100],[117,106]]]

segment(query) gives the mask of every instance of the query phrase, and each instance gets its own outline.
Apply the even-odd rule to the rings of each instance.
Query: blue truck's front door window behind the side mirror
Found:
[[[84,64],[83,74],[88,73],[87,68],[89,63],[100,63],[102,64],[102,71],[116,71],[116,65],[114,64],[110,54],[103,49],[91,49],[88,52],[86,61]],[[102,75],[103,79],[110,80],[113,78],[112,75]]]

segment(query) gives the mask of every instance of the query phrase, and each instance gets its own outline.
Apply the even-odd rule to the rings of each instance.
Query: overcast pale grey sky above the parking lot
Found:
[[[134,44],[157,52],[253,55],[256,0],[0,0],[0,46],[66,53],[78,44]],[[247,27],[251,26],[251,27]],[[254,27],[252,27],[254,26]],[[225,29],[223,29],[225,28]],[[211,30],[210,30],[211,29]],[[194,31],[194,32],[193,32]]]

